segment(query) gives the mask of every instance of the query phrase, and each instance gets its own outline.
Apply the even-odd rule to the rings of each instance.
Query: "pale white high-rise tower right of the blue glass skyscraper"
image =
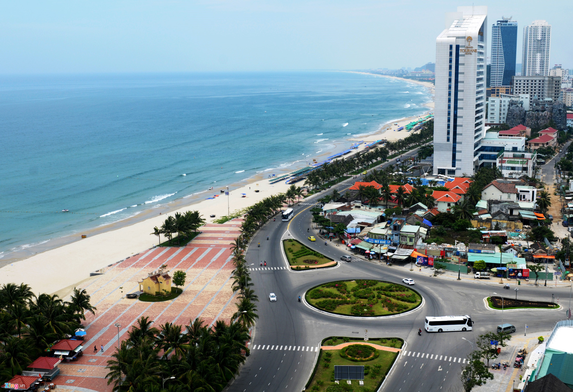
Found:
[[[551,25],[546,21],[533,21],[523,27],[521,76],[549,76]]]

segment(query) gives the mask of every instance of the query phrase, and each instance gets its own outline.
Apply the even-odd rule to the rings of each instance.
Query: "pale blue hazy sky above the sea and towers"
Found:
[[[452,1],[0,2],[0,74],[415,68],[435,61]],[[573,68],[573,2],[486,1],[552,25],[551,63]]]

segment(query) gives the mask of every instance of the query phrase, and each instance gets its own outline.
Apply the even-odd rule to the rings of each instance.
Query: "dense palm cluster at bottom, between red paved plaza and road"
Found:
[[[212,328],[202,319],[152,324],[140,317],[111,355],[105,377],[113,392],[219,392],[249,351],[248,328],[234,320],[218,320]]]

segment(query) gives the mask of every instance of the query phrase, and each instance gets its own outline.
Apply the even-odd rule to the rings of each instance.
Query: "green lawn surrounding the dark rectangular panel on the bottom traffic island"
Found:
[[[324,367],[325,353],[332,353],[331,362],[329,367]],[[391,351],[383,351],[378,350],[379,357],[376,359],[372,359],[372,361],[365,361],[365,362],[354,362],[350,361],[349,359],[345,359],[340,357],[340,350],[321,350],[319,355],[319,365],[316,368],[316,373],[312,378],[309,387],[306,389],[310,391],[313,386],[318,386],[318,391],[326,391],[327,387],[331,385],[336,385],[333,381],[334,378],[334,366],[335,365],[351,365],[351,366],[364,366],[364,373],[366,373],[366,366],[370,366],[368,369],[368,374],[364,375],[364,386],[359,387],[358,380],[352,380],[352,389],[355,391],[375,391],[376,387],[380,385],[380,382],[386,377],[386,373],[390,370],[394,359],[397,357],[398,353],[393,353]],[[380,373],[372,378],[374,365],[380,365]],[[320,385],[321,384],[321,385]],[[347,386],[346,380],[340,381],[340,386]],[[350,386],[350,385],[348,385]]]

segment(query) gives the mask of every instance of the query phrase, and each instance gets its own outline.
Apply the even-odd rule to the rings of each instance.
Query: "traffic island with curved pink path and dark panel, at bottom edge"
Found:
[[[315,392],[376,391],[398,358],[403,343],[403,340],[399,338],[374,338],[367,342],[363,339],[339,336],[325,338],[305,390]],[[364,379],[352,379],[350,385],[346,379],[341,379],[336,383],[335,366],[364,366]]]

